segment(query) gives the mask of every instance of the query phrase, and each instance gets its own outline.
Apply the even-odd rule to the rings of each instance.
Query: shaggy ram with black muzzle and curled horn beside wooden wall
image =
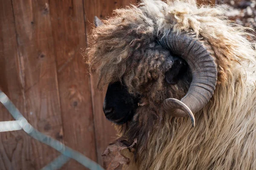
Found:
[[[108,85],[106,118],[137,139],[126,169],[256,169],[256,51],[246,28],[194,0],[144,0],[97,24],[85,56],[99,89]]]

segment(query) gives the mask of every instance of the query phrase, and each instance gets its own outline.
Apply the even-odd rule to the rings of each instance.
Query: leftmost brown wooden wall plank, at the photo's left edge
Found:
[[[0,0],[0,89],[24,113],[26,109],[20,73],[12,1]],[[9,120],[13,120],[11,114],[0,104],[0,121]],[[23,131],[0,133],[0,170],[33,170],[35,163],[29,161],[30,142],[29,136]]]

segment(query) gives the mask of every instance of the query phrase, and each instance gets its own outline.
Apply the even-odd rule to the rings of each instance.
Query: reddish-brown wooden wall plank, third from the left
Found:
[[[83,0],[51,0],[52,34],[57,61],[64,141],[96,161],[90,79],[81,49],[86,46]],[[70,161],[67,170],[82,170]]]

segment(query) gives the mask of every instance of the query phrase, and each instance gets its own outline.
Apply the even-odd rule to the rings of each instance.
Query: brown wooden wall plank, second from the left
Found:
[[[62,141],[62,120],[48,0],[13,0],[28,121]],[[41,169],[59,153],[32,139],[29,162]],[[17,167],[18,168],[18,167]]]

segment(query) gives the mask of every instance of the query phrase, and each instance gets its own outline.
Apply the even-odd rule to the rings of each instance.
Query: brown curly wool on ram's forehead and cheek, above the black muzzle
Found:
[[[162,70],[171,65],[164,62],[169,51],[154,42],[157,37],[154,23],[136,7],[114,13],[115,17],[103,20],[105,25],[93,29],[89,38],[91,48],[87,51],[87,62],[90,69],[94,65],[98,67],[98,87],[124,79],[131,93],[152,81],[157,81],[157,85],[145,88],[163,90]]]

